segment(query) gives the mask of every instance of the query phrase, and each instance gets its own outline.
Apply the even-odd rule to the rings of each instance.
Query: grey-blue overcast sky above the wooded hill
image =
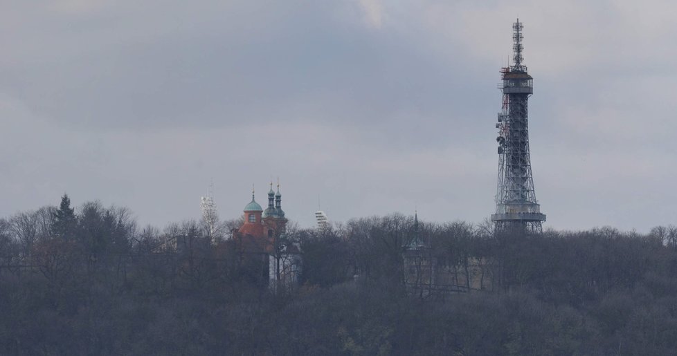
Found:
[[[677,224],[672,1],[0,0],[0,216],[101,200],[163,227],[495,209],[512,22],[545,227]]]

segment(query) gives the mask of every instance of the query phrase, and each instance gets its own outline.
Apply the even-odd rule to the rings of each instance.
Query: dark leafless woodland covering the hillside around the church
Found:
[[[138,227],[91,202],[0,219],[2,355],[673,355],[677,228],[495,234],[422,223],[450,265],[496,263],[493,290],[407,297],[413,217],[285,238],[296,290],[271,292],[225,221]],[[187,241],[177,251],[176,241]]]

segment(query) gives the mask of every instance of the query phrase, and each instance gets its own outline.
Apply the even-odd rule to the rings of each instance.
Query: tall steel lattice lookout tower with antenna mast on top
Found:
[[[498,88],[503,91],[503,108],[498,113],[498,188],[496,214],[491,220],[496,230],[525,229],[542,232],[545,214],[536,202],[529,156],[527,100],[534,93],[534,79],[522,64],[522,24],[512,24],[514,41],[512,66],[501,68]]]

